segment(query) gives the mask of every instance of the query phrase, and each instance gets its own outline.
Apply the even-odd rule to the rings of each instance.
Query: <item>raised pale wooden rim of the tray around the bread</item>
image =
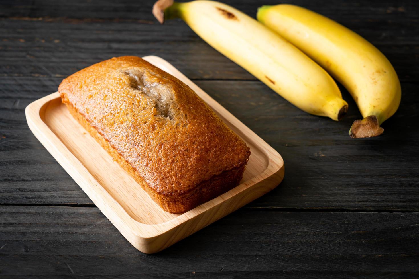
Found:
[[[270,189],[274,189],[283,179],[284,174],[284,161],[277,151],[263,141],[259,136],[251,131],[246,125],[241,123],[240,120],[235,118],[228,110],[223,108],[218,102],[212,97],[202,91],[196,84],[191,82],[181,72],[174,68],[164,59],[158,56],[145,56],[143,59],[155,64],[157,67],[173,74],[174,76],[185,82],[191,89],[207,102],[218,114],[222,115],[225,119],[228,119],[235,127],[241,130],[243,134],[251,141],[257,143],[257,146],[264,152],[264,155],[268,158],[268,164],[266,169],[259,175],[256,175],[252,179],[243,182],[239,186],[230,190],[229,192],[216,197],[215,199],[208,201],[198,207],[195,207],[188,212],[185,212],[172,220],[168,220],[164,223],[159,224],[144,224],[137,220],[134,220],[124,208],[114,198],[101,187],[101,184],[93,177],[93,175],[85,168],[85,166],[78,161],[78,159],[72,154],[72,152],[65,146],[64,143],[54,134],[53,131],[44,122],[44,112],[51,101],[59,98],[59,93],[54,92],[50,95],[42,97],[39,100],[32,102],[25,109],[26,120],[28,126],[39,141],[47,148],[47,150],[54,156],[54,158],[63,166],[63,168],[70,174],[70,176],[79,184],[79,186],[86,192],[86,194],[95,202],[96,206],[104,213],[104,215],[111,220],[111,222],[120,230],[125,236],[140,251],[145,253],[155,252],[153,248],[149,249],[149,243],[155,241],[156,238],[163,234],[175,231],[175,229],[191,220],[195,220],[197,229],[199,230],[199,222],[196,222],[197,218],[211,209],[219,208],[223,203],[228,203],[234,199],[239,193],[248,190],[251,187],[255,187],[261,182],[267,184]],[[268,181],[269,180],[269,181]],[[266,186],[266,185],[264,185]],[[256,189],[256,188],[255,188]],[[256,199],[255,197],[254,199]],[[253,200],[254,200],[253,199]],[[110,204],[111,203],[111,204]],[[247,203],[247,202],[246,202]],[[112,208],[112,210],[109,210]],[[235,208],[237,209],[237,208]],[[235,210],[234,209],[234,210]],[[234,211],[231,210],[231,211]],[[230,212],[231,212],[230,211]],[[227,215],[222,214],[222,216]],[[221,217],[222,217],[221,216]],[[221,218],[219,217],[219,218]],[[216,218],[215,220],[218,220]],[[118,221],[120,220],[120,221]],[[213,220],[212,222],[214,222]],[[122,222],[122,223],[119,223]],[[210,222],[210,223],[212,223]],[[208,224],[206,224],[208,225]],[[205,226],[205,225],[204,225]],[[204,227],[202,226],[202,227]],[[194,230],[194,231],[196,231]],[[186,235],[187,236],[187,235]],[[135,239],[137,238],[137,239]],[[182,237],[183,238],[183,237]],[[171,245],[173,243],[170,243]],[[168,246],[169,246],[168,245]],[[167,247],[167,246],[166,246]],[[160,249],[161,250],[161,249]]]

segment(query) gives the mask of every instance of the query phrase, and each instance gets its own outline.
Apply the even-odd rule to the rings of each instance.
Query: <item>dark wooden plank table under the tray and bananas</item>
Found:
[[[298,110],[152,1],[0,0],[0,277],[412,278],[419,276],[419,7],[295,0],[360,33],[392,62],[401,105],[377,138]],[[145,2],[145,1],[144,1]],[[229,1],[254,16],[276,1]],[[64,77],[158,55],[274,147],[274,191],[153,255],[133,248],[37,141],[24,109]]]

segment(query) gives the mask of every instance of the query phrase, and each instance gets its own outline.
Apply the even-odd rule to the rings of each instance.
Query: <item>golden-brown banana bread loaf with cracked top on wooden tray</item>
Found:
[[[186,84],[136,56],[87,67],[59,85],[83,127],[168,212],[240,182],[250,151]]]

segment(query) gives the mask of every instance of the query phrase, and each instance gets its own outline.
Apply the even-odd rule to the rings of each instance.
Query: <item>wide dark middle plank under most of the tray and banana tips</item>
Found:
[[[24,118],[26,104],[57,90],[59,82],[60,78],[0,77],[2,204],[92,204],[32,135]],[[248,208],[419,210],[416,84],[402,84],[402,104],[383,124],[382,136],[353,140],[347,132],[360,113],[345,91],[349,113],[335,122],[304,113],[261,82],[196,83],[287,164],[282,184]]]

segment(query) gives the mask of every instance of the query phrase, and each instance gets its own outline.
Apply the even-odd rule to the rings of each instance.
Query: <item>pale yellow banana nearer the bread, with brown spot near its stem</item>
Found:
[[[209,45],[305,112],[339,120],[347,112],[334,79],[302,51],[235,8],[215,1],[160,0],[153,13],[181,18]]]

